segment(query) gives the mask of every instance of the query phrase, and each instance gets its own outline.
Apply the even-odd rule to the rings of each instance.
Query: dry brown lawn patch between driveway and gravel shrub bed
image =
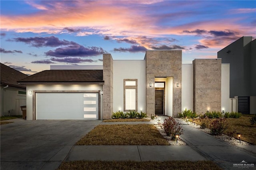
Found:
[[[98,125],[76,145],[168,145],[154,125]]]

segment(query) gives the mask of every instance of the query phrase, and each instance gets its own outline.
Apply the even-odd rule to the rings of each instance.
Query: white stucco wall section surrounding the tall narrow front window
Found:
[[[146,112],[146,61],[113,61],[113,112],[124,111],[124,79],[138,79],[138,112]]]

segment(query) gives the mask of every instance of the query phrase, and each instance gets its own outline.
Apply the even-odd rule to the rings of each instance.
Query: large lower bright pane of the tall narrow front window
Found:
[[[125,89],[125,110],[136,110],[136,89]]]

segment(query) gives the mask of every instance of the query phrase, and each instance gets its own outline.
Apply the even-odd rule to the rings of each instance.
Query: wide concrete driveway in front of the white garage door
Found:
[[[1,170],[56,169],[75,142],[100,122],[17,119],[1,125]]]

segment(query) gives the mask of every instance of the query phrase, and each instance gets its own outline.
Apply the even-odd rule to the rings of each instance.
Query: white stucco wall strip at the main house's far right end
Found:
[[[221,64],[221,111],[232,111],[232,99],[229,98],[230,64]]]

